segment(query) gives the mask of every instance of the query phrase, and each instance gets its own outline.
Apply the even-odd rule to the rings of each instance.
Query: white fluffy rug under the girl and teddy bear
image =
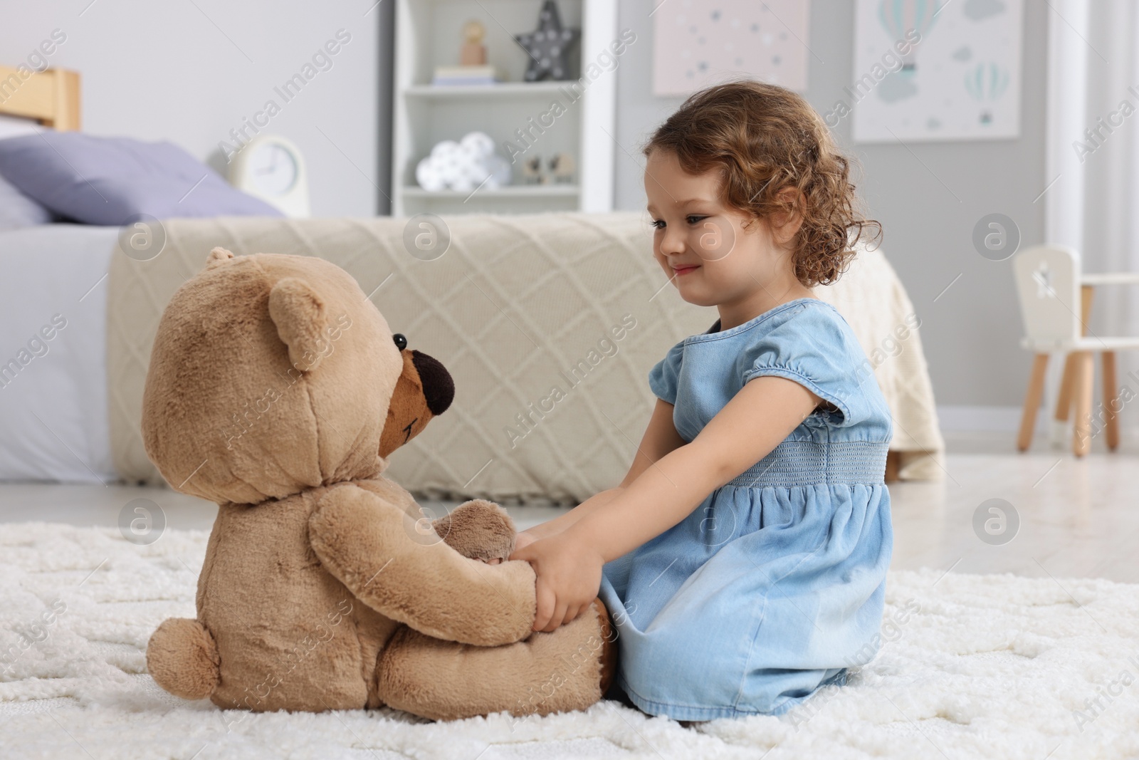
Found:
[[[194,616],[207,534],[134,546],[110,529],[0,528],[5,758],[1139,757],[1139,586],[891,575],[880,654],[781,718],[686,728],[614,702],[516,721],[390,710],[222,712],[146,673],[155,626]],[[54,606],[52,606],[54,605]]]

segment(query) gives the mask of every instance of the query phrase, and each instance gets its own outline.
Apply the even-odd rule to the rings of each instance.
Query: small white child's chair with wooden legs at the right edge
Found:
[[[1103,430],[1107,448],[1120,444],[1118,389],[1115,386],[1115,352],[1139,349],[1139,337],[1101,337],[1088,334],[1088,318],[1097,285],[1139,285],[1139,272],[1082,275],[1080,254],[1073,248],[1038,245],[1025,248],[1013,259],[1016,293],[1025,337],[1021,344],[1033,351],[1032,375],[1024,397],[1024,415],[1017,448],[1025,451],[1032,443],[1044,390],[1044,370],[1052,351],[1066,354],[1064,376],[1056,401],[1056,419],[1067,422],[1075,407],[1072,451],[1077,457],[1088,453],[1091,439]],[[1104,401],[1098,415],[1092,415],[1092,353],[1103,357]],[[1096,424],[1100,423],[1101,426]]]

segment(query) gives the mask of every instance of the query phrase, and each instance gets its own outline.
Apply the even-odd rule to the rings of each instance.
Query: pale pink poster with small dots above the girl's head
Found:
[[[747,76],[806,89],[809,0],[657,0],[653,95]]]

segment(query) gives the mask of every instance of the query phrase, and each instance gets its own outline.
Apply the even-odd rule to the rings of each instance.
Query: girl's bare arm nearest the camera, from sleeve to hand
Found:
[[[765,457],[811,414],[819,397],[789,379],[744,385],[691,443],[670,451],[604,509],[516,550],[538,574],[534,630],[552,631],[592,603],[601,565],[669,530],[708,493]]]

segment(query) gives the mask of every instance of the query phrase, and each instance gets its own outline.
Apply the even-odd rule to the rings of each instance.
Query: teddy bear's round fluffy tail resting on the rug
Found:
[[[150,676],[174,696],[204,700],[221,679],[213,636],[189,618],[169,618],[150,636],[146,664]]]

